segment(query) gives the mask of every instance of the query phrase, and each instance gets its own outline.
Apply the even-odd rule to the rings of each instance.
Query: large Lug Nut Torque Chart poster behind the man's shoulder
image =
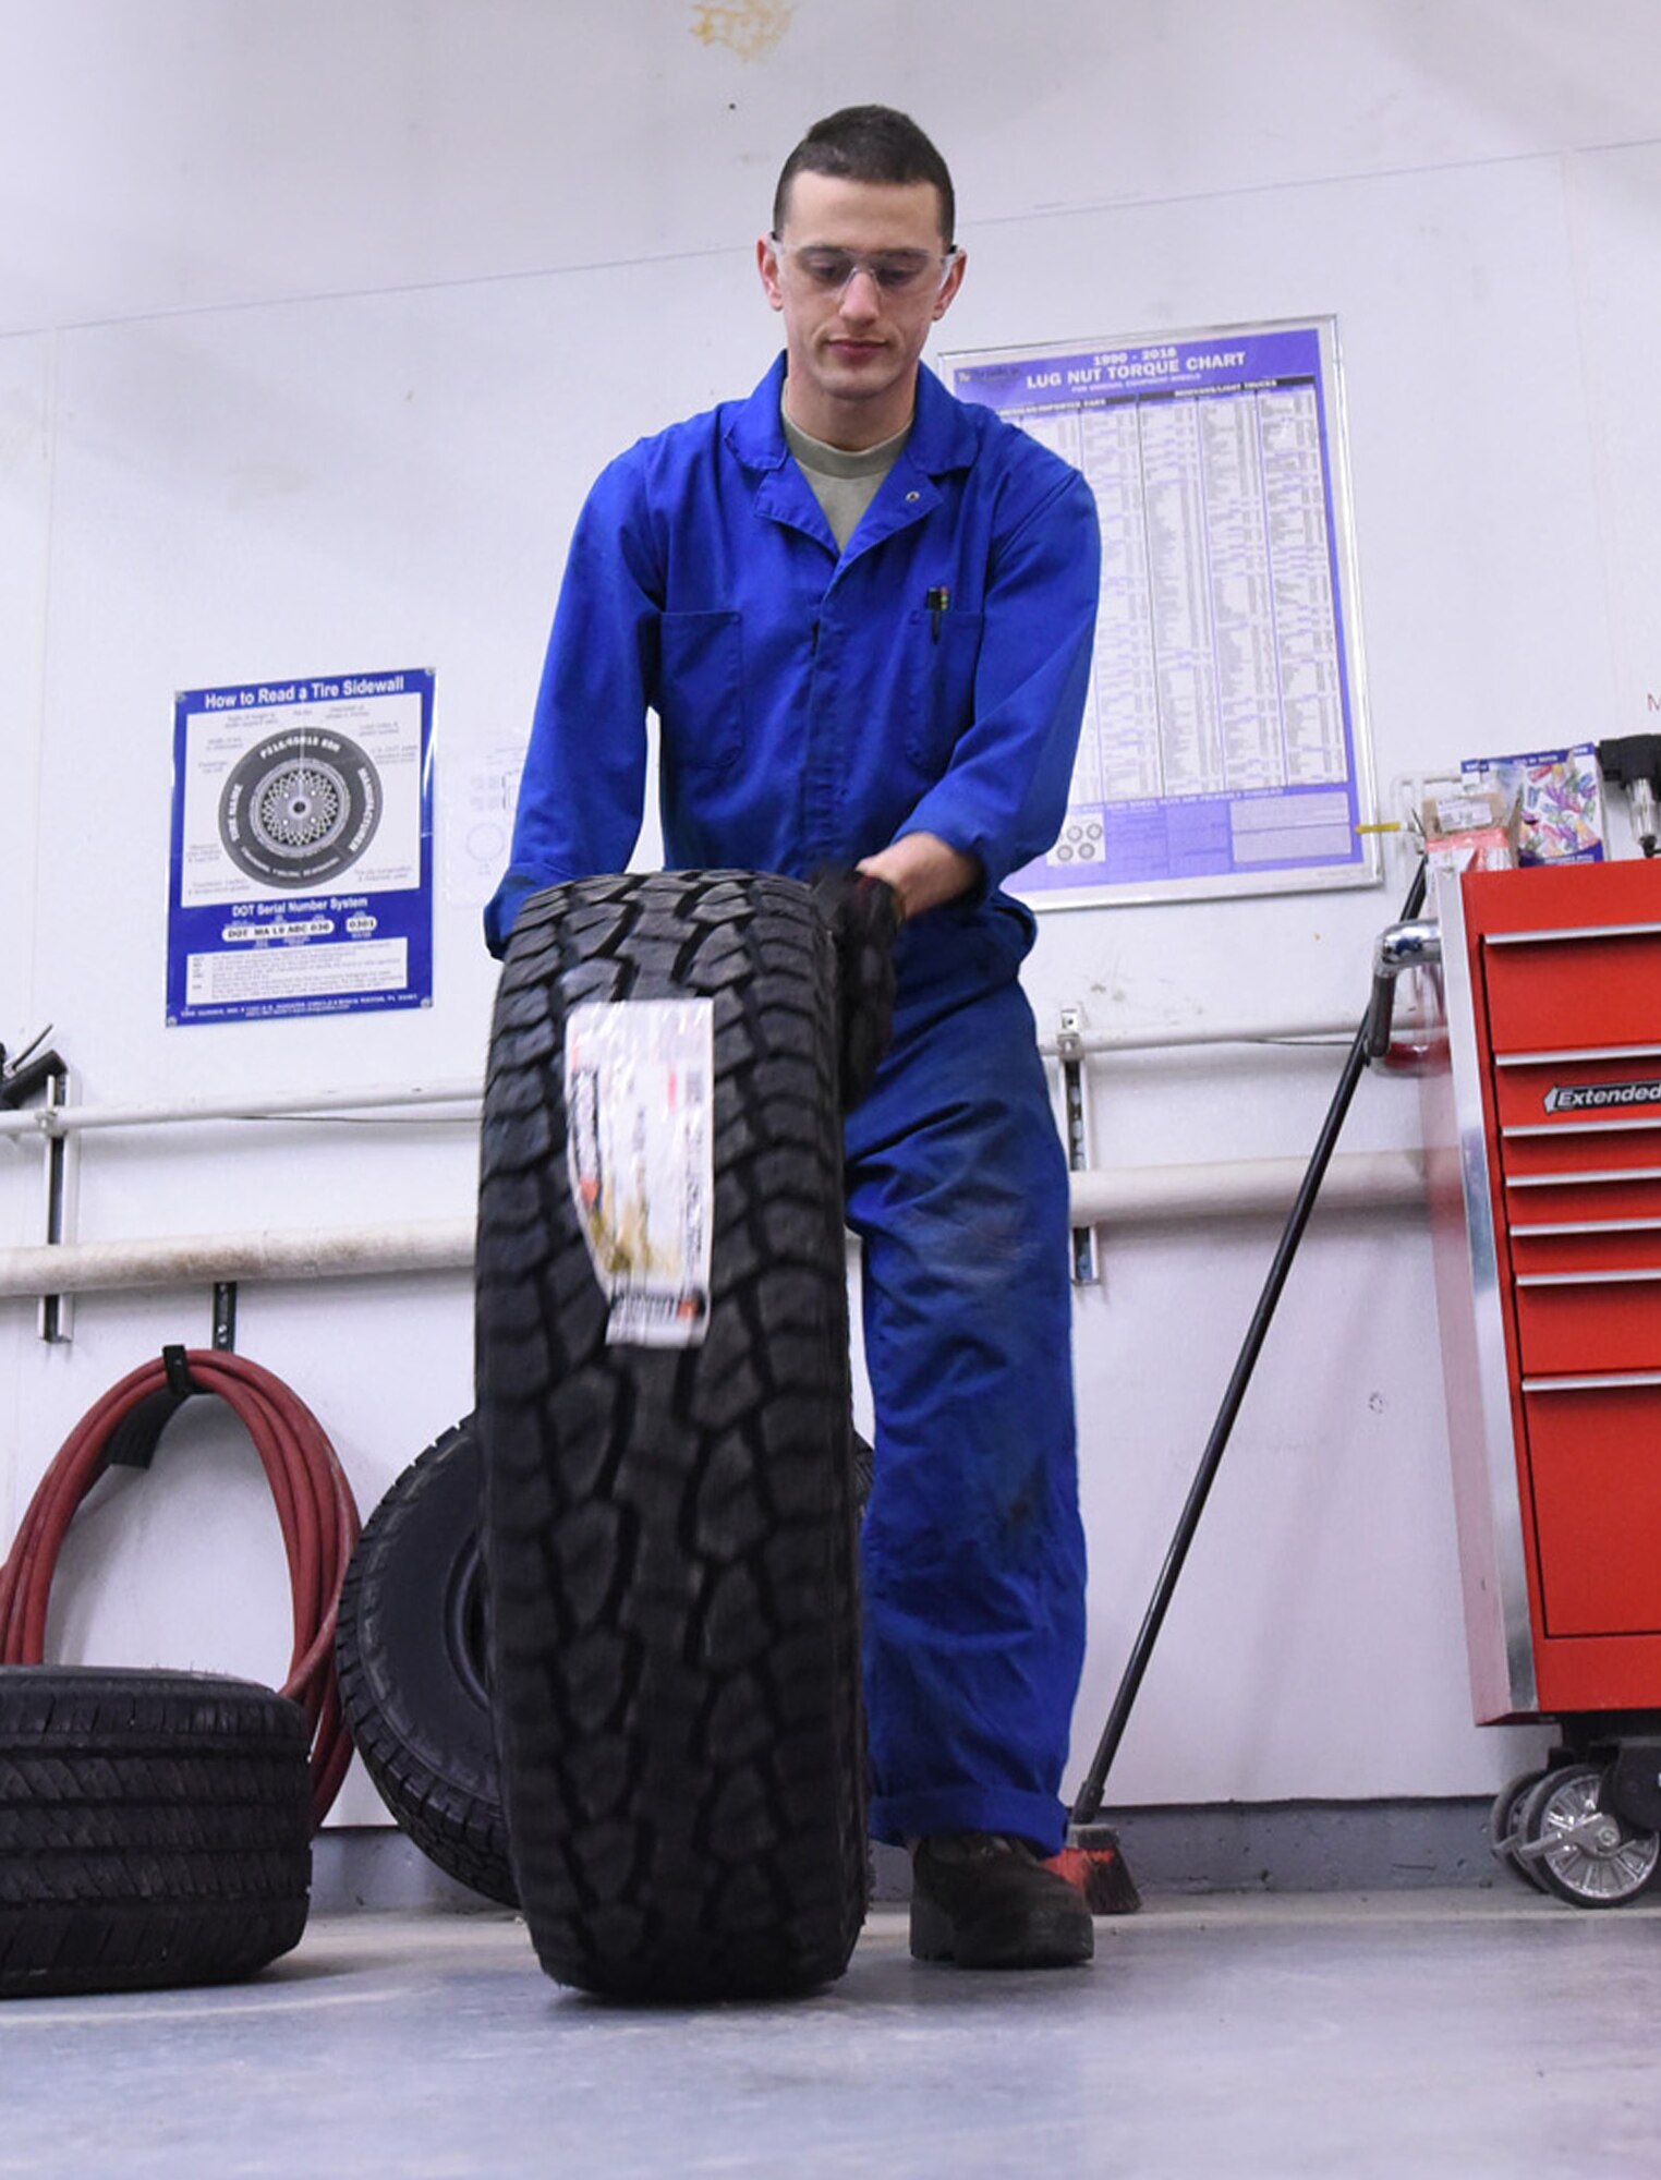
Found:
[[[1332,318],[948,358],[1083,473],[1101,615],[1033,907],[1380,876]]]

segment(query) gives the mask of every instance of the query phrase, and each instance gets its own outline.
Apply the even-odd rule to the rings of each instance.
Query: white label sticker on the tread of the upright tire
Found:
[[[565,1020],[565,1160],[608,1345],[708,1328],[715,1001],[586,1001]]]

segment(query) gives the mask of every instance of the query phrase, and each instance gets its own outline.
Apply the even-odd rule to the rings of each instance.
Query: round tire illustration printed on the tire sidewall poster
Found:
[[[259,885],[331,885],[381,822],[381,776],[347,735],[288,728],[246,750],[220,794],[220,841]]]

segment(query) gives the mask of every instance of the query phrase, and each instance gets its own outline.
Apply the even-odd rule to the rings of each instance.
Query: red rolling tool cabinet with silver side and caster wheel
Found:
[[[1661,1831],[1661,863],[1443,876],[1436,918],[1426,1142],[1474,1707],[1563,1737],[1495,1805],[1500,1846],[1615,1905],[1661,1860],[1633,1853]]]

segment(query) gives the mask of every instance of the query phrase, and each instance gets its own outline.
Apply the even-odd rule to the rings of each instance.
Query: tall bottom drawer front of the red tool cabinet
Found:
[[[1548,1635],[1661,1631],[1661,1376],[1524,1384]]]

